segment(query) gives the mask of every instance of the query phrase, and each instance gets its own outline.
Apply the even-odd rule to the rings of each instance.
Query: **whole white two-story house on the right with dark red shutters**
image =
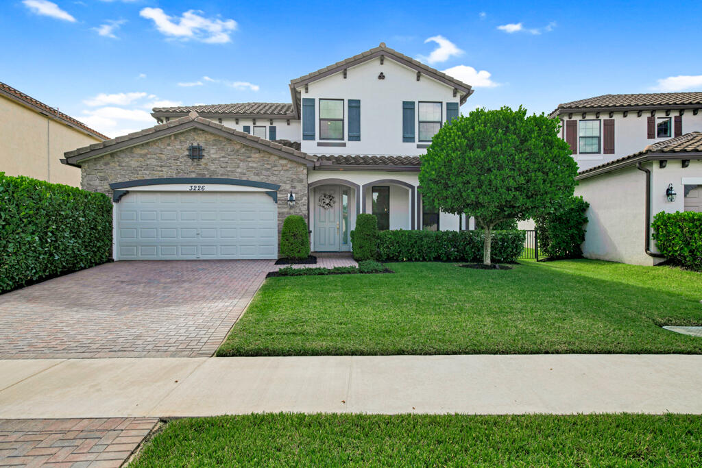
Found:
[[[651,237],[661,211],[702,211],[702,92],[608,94],[558,105],[590,203],[583,254],[637,265],[665,260]]]

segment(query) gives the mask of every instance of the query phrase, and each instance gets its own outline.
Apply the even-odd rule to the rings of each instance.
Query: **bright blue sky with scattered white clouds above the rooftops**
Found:
[[[463,113],[550,112],[702,91],[701,17],[700,1],[6,0],[0,81],[114,137],[153,105],[289,102],[291,79],[385,41],[473,85]]]

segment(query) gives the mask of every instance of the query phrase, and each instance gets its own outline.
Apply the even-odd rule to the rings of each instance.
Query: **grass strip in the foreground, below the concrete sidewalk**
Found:
[[[169,422],[129,466],[702,464],[694,415],[300,415]]]

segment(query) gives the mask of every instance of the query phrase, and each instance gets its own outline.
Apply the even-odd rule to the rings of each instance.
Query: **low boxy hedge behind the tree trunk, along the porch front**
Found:
[[[383,231],[380,262],[482,262],[485,233],[479,231]],[[515,262],[524,250],[524,232],[494,231],[493,262]]]

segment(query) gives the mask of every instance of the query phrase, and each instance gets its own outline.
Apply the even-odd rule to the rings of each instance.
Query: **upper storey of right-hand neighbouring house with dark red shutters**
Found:
[[[702,92],[605,94],[559,104],[561,120],[581,171],[683,133],[702,131]]]

